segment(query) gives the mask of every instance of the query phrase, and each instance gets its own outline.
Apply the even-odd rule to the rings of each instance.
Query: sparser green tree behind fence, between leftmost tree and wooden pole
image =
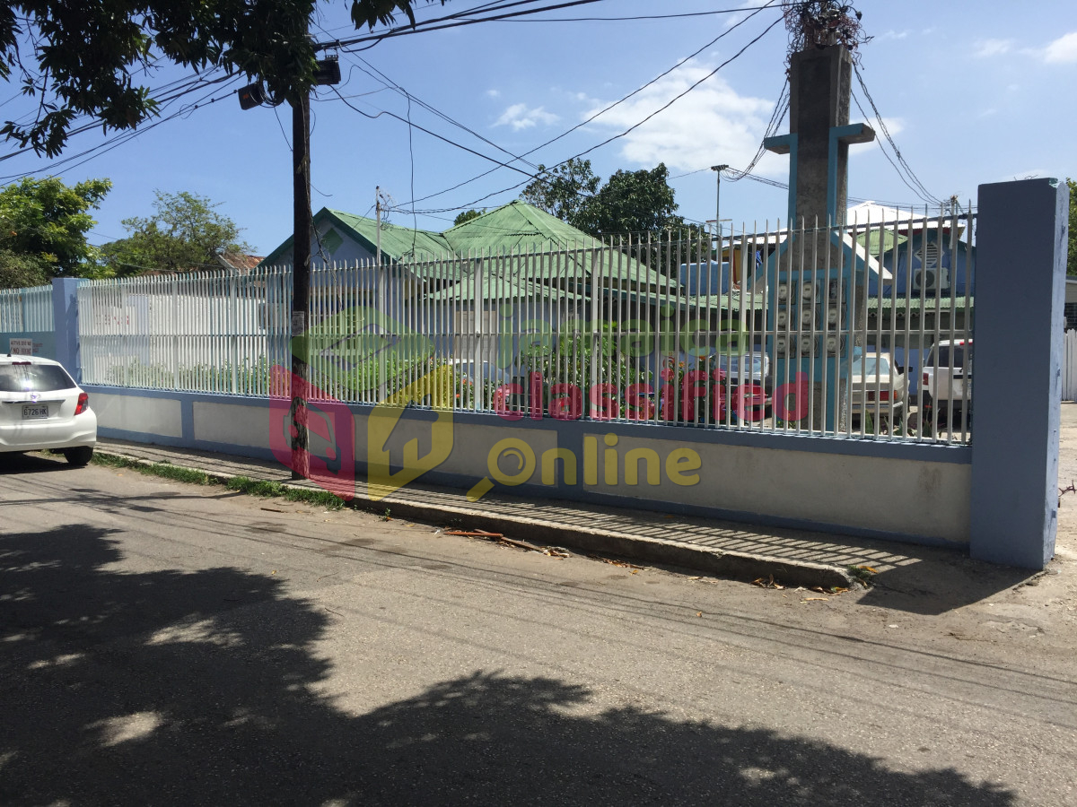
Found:
[[[154,214],[122,224],[130,235],[101,246],[102,260],[116,274],[176,271],[214,265],[225,252],[249,252],[240,228],[215,212],[219,204],[196,194],[155,192]]]

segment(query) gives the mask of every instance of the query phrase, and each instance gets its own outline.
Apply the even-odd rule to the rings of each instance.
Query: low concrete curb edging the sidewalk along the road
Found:
[[[98,448],[98,453],[114,456],[138,465],[154,466],[159,463],[131,456],[117,451]],[[238,473],[221,473],[191,466],[169,463],[171,467],[206,473],[215,482],[225,483]],[[284,483],[284,487],[310,490],[310,485]],[[389,508],[394,516],[409,521],[444,524],[447,518],[466,520],[468,528],[503,533],[508,537],[537,543],[573,549],[584,553],[599,553],[643,561],[653,564],[677,566],[693,571],[703,571],[715,577],[736,580],[755,580],[773,576],[784,585],[852,587],[849,572],[828,564],[811,561],[789,561],[783,557],[749,552],[728,552],[676,540],[618,533],[609,529],[578,527],[536,519],[523,519],[504,513],[491,513],[452,505],[431,505],[410,500],[398,494],[373,499],[365,492],[356,492],[351,507],[377,511]]]

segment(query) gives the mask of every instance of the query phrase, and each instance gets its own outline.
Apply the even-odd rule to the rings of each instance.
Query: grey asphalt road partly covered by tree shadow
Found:
[[[3,461],[0,804],[1074,805],[1068,635],[955,627],[1011,583],[765,591]]]

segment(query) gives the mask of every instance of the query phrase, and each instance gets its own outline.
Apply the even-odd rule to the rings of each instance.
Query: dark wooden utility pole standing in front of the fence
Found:
[[[292,104],[292,194],[295,211],[292,238],[292,479],[310,477],[307,452],[307,396],[310,392],[310,94],[303,91]]]

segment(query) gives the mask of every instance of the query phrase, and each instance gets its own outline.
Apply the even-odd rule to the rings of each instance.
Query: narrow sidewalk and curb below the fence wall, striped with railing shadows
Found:
[[[248,477],[295,483],[280,464],[194,449],[173,449],[120,440],[100,440],[97,451],[146,463],[169,463],[220,478]],[[488,494],[476,502],[464,492],[411,484],[372,499],[356,481],[353,506],[393,516],[453,528],[486,529],[541,546],[567,547],[649,563],[681,566],[723,577],[754,579],[773,575],[799,585],[849,585],[848,567],[883,572],[933,557],[957,553],[928,547],[876,541],[807,530],[766,528],[688,515],[585,502],[559,502]]]

